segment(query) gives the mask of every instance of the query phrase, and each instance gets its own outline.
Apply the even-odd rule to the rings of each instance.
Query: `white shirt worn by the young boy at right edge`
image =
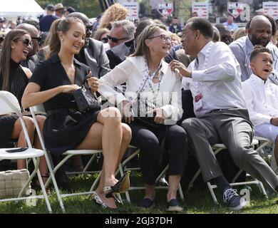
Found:
[[[270,123],[272,117],[278,117],[278,86],[255,76],[242,83],[249,117],[254,126]]]

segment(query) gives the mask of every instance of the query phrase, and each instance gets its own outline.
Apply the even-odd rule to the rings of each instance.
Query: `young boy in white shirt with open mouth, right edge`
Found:
[[[268,78],[272,65],[272,54],[267,48],[255,49],[250,57],[253,73],[242,83],[242,88],[254,124],[254,135],[274,142],[274,157],[278,164],[278,86],[270,83]]]

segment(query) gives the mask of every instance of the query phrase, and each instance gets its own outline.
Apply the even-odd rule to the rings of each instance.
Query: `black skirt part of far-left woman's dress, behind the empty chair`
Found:
[[[0,147],[8,147],[11,134],[14,131],[14,123],[19,117],[17,115],[5,115],[0,117]]]

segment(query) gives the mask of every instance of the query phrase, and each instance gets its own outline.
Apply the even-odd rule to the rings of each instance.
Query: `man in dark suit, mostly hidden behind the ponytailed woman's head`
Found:
[[[86,26],[85,44],[79,54],[74,57],[81,63],[86,64],[91,69],[93,76],[101,78],[110,71],[109,60],[104,51],[103,43],[91,38],[93,24],[88,16],[82,13],[74,12],[68,14],[67,17],[77,17]]]

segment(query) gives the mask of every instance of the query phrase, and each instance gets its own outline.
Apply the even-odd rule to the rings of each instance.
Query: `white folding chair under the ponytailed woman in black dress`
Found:
[[[35,123],[35,126],[36,126],[36,131],[37,131],[38,137],[39,137],[39,139],[41,141],[41,146],[43,147],[44,155],[46,156],[46,162],[47,162],[49,173],[50,173],[50,177],[48,178],[45,187],[48,187],[49,183],[52,180],[54,188],[55,188],[55,191],[56,191],[56,195],[57,195],[57,198],[58,198],[58,202],[60,204],[60,207],[61,207],[62,211],[65,212],[65,208],[63,206],[62,198],[63,197],[70,197],[70,196],[77,196],[77,195],[90,195],[90,194],[93,194],[93,190],[92,190],[93,186],[96,185],[95,182],[98,181],[101,172],[98,175],[98,178],[93,183],[93,185],[91,187],[91,190],[89,192],[76,192],[76,193],[70,193],[70,194],[61,194],[60,191],[58,190],[58,185],[57,185],[57,182],[56,182],[56,179],[55,179],[56,171],[58,170],[59,167],[61,167],[66,162],[66,160],[68,160],[70,157],[73,157],[74,155],[97,155],[97,154],[101,153],[102,150],[67,150],[66,152],[63,152],[63,154],[62,154],[62,155],[65,155],[65,157],[63,157],[63,160],[61,160],[61,162],[59,162],[58,165],[56,165],[56,167],[53,167],[53,163],[51,162],[51,160],[50,160],[50,158],[48,156],[48,151],[46,150],[46,147],[44,145],[44,140],[43,140],[43,137],[41,135],[40,129],[38,127],[38,123],[36,121],[36,116],[35,116],[36,114],[46,113],[46,111],[44,110],[42,104],[41,105],[36,105],[34,107],[31,107],[30,111],[31,111],[32,117],[34,118],[34,123]]]

